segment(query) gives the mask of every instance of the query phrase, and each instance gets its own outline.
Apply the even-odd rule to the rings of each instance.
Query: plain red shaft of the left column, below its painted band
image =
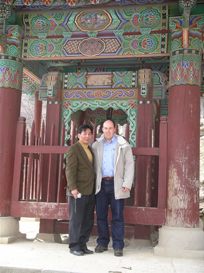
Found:
[[[0,216],[9,215],[20,99],[19,90],[0,88]]]

